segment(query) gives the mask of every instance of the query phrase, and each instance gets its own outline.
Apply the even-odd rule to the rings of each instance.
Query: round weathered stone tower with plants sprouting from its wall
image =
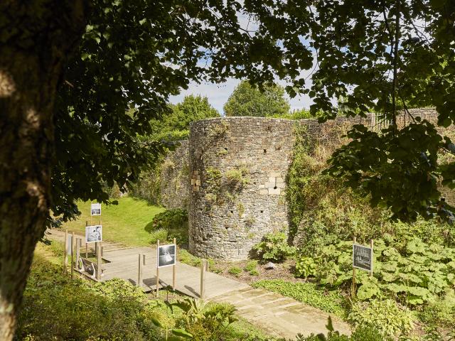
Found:
[[[226,117],[192,122],[189,247],[214,259],[247,259],[264,234],[287,229],[285,177],[294,122]]]

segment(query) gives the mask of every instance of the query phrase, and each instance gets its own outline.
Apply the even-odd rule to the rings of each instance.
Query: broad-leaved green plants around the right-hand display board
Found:
[[[314,257],[317,279],[327,286],[349,288],[352,282],[352,244],[323,247]],[[410,305],[434,301],[455,288],[455,249],[428,245],[414,238],[403,254],[389,242],[375,241],[374,277],[358,271],[357,297],[361,300],[387,294]]]

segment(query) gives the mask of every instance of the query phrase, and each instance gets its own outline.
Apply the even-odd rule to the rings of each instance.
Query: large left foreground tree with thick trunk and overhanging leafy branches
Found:
[[[266,16],[262,33],[239,11]],[[293,40],[284,26],[296,28],[259,0],[0,1],[0,340],[50,212],[68,219],[77,199],[108,202],[103,182],[134,181],[162,148],[136,136],[191,80],[271,82],[311,65],[306,48],[277,45]]]

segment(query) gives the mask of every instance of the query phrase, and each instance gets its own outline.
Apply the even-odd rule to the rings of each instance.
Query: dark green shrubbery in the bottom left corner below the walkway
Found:
[[[92,289],[40,257],[33,268],[15,340],[161,340],[152,316],[141,315],[143,303],[129,293]]]

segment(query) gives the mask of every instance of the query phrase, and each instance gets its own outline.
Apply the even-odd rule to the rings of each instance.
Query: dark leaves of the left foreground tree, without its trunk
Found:
[[[257,34],[240,11],[267,19]],[[277,45],[294,39],[283,26],[296,23],[262,1],[94,1],[55,100],[53,214],[73,217],[77,199],[108,202],[103,184],[124,190],[156,162],[164,147],[137,136],[154,133],[150,120],[166,117],[168,96],[189,82],[272,82],[274,72],[296,75],[297,60],[310,67],[305,47]]]

